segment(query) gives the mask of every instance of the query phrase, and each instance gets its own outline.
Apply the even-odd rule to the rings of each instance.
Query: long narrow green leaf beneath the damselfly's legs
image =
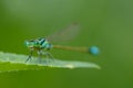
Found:
[[[27,58],[27,55],[0,52],[0,72],[39,70],[45,67],[100,69],[100,66],[94,63],[60,59],[51,61],[50,58],[42,58],[41,63],[39,63],[38,57],[32,57],[31,61],[25,63]]]

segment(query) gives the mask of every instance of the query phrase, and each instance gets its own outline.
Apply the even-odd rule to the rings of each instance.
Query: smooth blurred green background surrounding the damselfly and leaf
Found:
[[[99,64],[102,69],[23,70],[0,74],[1,88],[133,88],[132,0],[0,0],[0,51],[28,54],[23,42],[72,22],[79,36],[63,45],[98,45],[93,57],[53,50],[54,57]]]

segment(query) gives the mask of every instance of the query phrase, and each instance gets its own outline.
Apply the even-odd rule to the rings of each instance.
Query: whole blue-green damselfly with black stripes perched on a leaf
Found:
[[[78,23],[72,23],[68,28],[49,35],[47,37],[39,37],[35,40],[25,41],[25,46],[30,50],[30,55],[25,62],[31,59],[32,53],[34,51],[38,52],[39,61],[41,62],[42,55],[45,55],[48,58],[53,58],[53,56],[49,53],[52,48],[59,50],[68,50],[68,51],[76,51],[82,53],[89,53],[91,55],[98,55],[100,50],[96,46],[91,47],[73,47],[73,46],[63,46],[63,45],[53,45],[52,42],[62,42],[72,40],[79,33],[80,25]]]

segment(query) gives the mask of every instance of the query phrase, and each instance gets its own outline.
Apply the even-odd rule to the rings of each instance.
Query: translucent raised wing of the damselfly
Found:
[[[63,30],[55,32],[47,37],[50,42],[65,42],[74,38],[80,31],[80,25],[78,23],[72,23]]]

